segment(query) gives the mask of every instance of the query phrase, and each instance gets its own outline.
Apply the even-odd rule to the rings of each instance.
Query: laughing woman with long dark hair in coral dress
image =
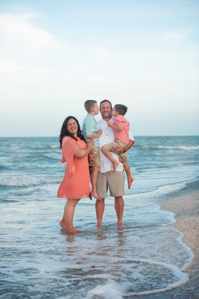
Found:
[[[88,197],[90,194],[88,153],[95,143],[93,138],[86,143],[81,133],[78,120],[68,116],[63,122],[59,139],[63,153],[61,162],[66,162],[66,171],[57,197],[67,198],[60,226],[64,229],[68,228],[69,234],[80,233],[73,228],[74,209],[81,198]]]

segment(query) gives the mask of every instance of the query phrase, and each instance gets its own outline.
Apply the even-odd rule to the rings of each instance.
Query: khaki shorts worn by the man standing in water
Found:
[[[96,183],[96,190],[99,198],[106,197],[108,188],[112,197],[125,195],[124,182],[124,171],[116,171],[115,173],[113,173],[113,170],[110,170],[107,173],[101,173],[99,171]]]

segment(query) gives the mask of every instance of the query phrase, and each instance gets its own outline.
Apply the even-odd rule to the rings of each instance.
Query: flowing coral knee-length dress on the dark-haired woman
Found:
[[[62,183],[57,191],[57,197],[80,199],[88,197],[90,193],[90,175],[88,168],[88,155],[83,158],[74,156],[74,142],[82,149],[86,147],[83,140],[78,141],[65,136],[62,141],[62,159],[66,162],[66,171]]]

